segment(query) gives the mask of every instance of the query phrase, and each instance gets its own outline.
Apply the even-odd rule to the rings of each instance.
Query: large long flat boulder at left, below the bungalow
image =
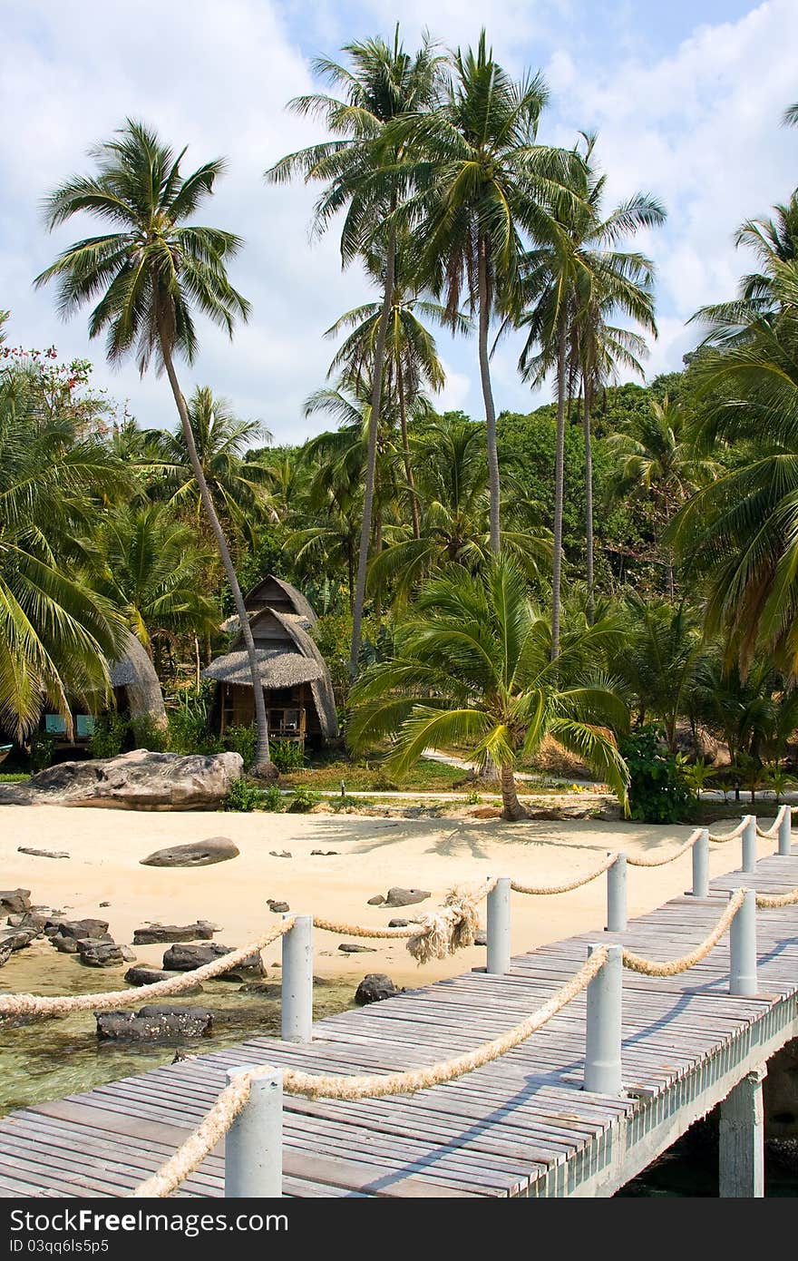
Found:
[[[117,810],[213,810],[241,778],[238,753],[150,753],[61,762],[25,784],[4,786],[8,805],[103,806]],[[13,908],[16,909],[16,908]]]

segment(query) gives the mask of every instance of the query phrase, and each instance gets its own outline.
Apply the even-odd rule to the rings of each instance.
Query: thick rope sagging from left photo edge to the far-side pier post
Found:
[[[179,994],[182,990],[188,990],[202,981],[211,981],[214,976],[222,976],[233,967],[246,963],[252,955],[265,950],[277,937],[287,933],[292,923],[292,919],[284,919],[281,924],[270,928],[248,946],[233,950],[228,955],[219,955],[209,963],[203,963],[202,967],[195,967],[182,976],[170,976],[165,981],[153,981],[151,985],[140,985],[136,989],[71,996],[63,994],[0,994],[0,1016],[63,1016],[73,1011],[112,1011],[115,1008],[129,1006],[131,1000],[137,1002],[141,997],[155,999]]]

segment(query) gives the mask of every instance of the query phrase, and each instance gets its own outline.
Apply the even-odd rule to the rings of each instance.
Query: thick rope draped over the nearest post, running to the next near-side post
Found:
[[[519,1024],[508,1029],[499,1038],[485,1042],[475,1050],[465,1052],[451,1059],[445,1059],[426,1068],[411,1068],[401,1073],[386,1073],[382,1076],[362,1077],[330,1077],[324,1074],[301,1073],[292,1068],[284,1069],[282,1090],[287,1095],[301,1095],[305,1098],[333,1098],[333,1100],[362,1100],[382,1098],[386,1095],[415,1095],[417,1091],[427,1090],[430,1086],[441,1086],[445,1082],[456,1081],[465,1073],[473,1073],[477,1068],[483,1068],[492,1061],[506,1055],[508,1050],[526,1042],[533,1033],[541,1029],[552,1016],[571,1002],[577,994],[587,987],[590,981],[599,973],[606,962],[606,947],[595,951],[580,967],[570,981],[566,981],[556,994],[542,1006],[537,1008]],[[255,1068],[252,1072],[241,1073],[217,1097],[211,1111],[194,1130],[192,1135],[178,1148],[174,1156],[168,1160],[158,1173],[147,1178],[131,1192],[134,1199],[146,1199],[149,1197],[163,1198],[170,1195],[182,1182],[188,1178],[205,1159],[209,1151],[229,1130],[238,1112],[247,1102],[252,1082],[266,1073],[272,1073],[274,1067],[266,1064]]]

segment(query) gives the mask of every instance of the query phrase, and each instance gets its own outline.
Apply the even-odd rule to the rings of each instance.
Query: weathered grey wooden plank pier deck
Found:
[[[623,942],[668,960],[707,936],[729,890],[797,885],[798,855],[774,855],[753,873],[712,880],[708,897],[676,898],[624,932],[517,955],[507,975],[469,972],[329,1016],[314,1025],[310,1043],[253,1038],[13,1112],[0,1121],[0,1195],[126,1195],[197,1126],[231,1067],[379,1073],[432,1064],[522,1020],[574,976],[590,942]],[[352,1102],[286,1096],[284,1194],[614,1194],[715,1105],[731,1096],[729,1124],[745,1115],[746,1083],[755,1092],[768,1059],[798,1037],[798,905],[760,909],[756,931],[756,997],[729,995],[727,937],[679,976],[624,971],[620,1097],[582,1090],[584,994],[526,1043],[456,1082]],[[745,1165],[745,1150],[740,1159]],[[223,1173],[219,1144],[180,1194],[222,1195]]]

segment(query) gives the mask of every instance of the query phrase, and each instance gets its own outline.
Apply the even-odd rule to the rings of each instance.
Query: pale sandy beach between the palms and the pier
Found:
[[[734,821],[732,821],[734,822]],[[729,825],[714,825],[727,831]],[[382,820],[358,816],[134,813],[115,810],[69,810],[58,806],[8,806],[0,811],[0,888],[26,888],[32,902],[68,912],[73,918],[110,922],[120,943],[134,928],[156,921],[190,923],[198,918],[223,926],[216,939],[242,946],[276,921],[267,898],[291,910],[385,927],[401,910],[367,905],[390,885],[429,889],[431,907],[458,883],[488,875],[512,875],[528,884],[557,884],[590,871],[608,849],[664,856],[690,835],[690,827],[569,821],[509,825],[473,820]],[[214,866],[145,868],[139,859],[164,845],[223,835],[240,857]],[[18,846],[68,850],[68,860],[33,857]],[[773,850],[760,841],[760,854]],[[290,859],[271,857],[287,849]],[[313,849],[337,850],[310,856]],[[712,846],[711,874],[740,865],[736,842]],[[629,913],[642,914],[691,883],[691,860],[654,870],[629,871]],[[100,903],[110,907],[101,909]],[[513,950],[604,926],[605,880],[551,898],[513,895]],[[412,908],[410,908],[412,913]],[[484,963],[484,950],[417,968],[402,942],[373,942],[374,953],[345,956],[329,933],[315,934],[315,971],[350,976],[386,971],[400,985],[419,985]],[[371,943],[368,943],[371,944]],[[136,948],[142,963],[160,966],[163,946]],[[279,948],[266,953],[271,965]],[[76,963],[76,967],[81,965]],[[269,967],[274,973],[274,968]],[[97,971],[97,989],[103,972]],[[3,973],[0,972],[0,987]]]

